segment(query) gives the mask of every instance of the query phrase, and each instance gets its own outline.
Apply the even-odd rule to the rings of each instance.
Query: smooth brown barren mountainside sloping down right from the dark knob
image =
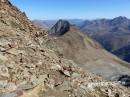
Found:
[[[61,20],[58,22],[60,23]],[[63,30],[63,27],[56,23],[49,32],[56,32],[57,29],[59,31],[60,28]],[[57,35],[52,37],[46,44],[57,54],[76,62],[78,66],[109,80],[120,74],[130,74],[129,63],[104,50],[97,42],[90,39],[77,28],[71,26],[68,32],[60,36],[59,33],[57,34],[58,37]]]

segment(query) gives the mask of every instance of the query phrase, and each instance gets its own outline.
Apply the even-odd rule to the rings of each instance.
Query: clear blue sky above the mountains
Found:
[[[10,0],[30,19],[130,18],[130,0]]]

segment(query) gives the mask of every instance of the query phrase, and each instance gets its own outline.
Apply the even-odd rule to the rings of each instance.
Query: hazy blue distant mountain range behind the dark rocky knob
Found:
[[[41,28],[50,29],[56,21],[35,20],[33,22],[42,25]],[[99,42],[109,52],[130,62],[130,19],[119,16],[114,19],[70,19],[68,21],[72,25],[79,27],[81,32]]]

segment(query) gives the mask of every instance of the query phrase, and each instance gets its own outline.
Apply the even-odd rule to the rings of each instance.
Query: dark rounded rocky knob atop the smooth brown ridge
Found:
[[[68,21],[59,20],[49,31],[50,35],[61,36],[64,35],[70,29]]]

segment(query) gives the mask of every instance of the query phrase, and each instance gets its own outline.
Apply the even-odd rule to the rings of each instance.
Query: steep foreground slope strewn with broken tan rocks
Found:
[[[128,88],[58,56],[48,41],[24,12],[0,0],[0,97],[130,96]]]

